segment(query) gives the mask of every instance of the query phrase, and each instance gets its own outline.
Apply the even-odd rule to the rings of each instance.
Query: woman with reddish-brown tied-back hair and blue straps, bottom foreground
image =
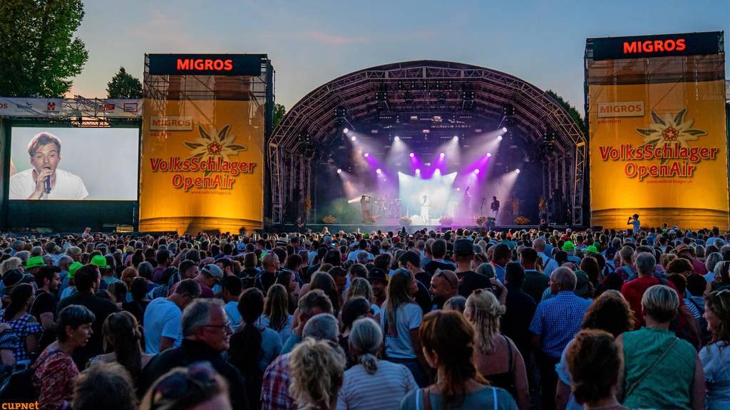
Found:
[[[408,393],[401,410],[518,409],[507,390],[489,386],[479,374],[474,363],[475,331],[461,313],[426,314],[418,333],[426,360],[438,371],[437,382]]]

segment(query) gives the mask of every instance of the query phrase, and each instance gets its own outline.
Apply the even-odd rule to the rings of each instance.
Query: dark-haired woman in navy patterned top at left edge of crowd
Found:
[[[43,333],[43,326],[28,313],[34,299],[33,285],[21,283],[12,289],[7,309],[0,310],[0,323],[7,323],[15,336],[18,336],[19,343],[13,349],[15,365],[30,364],[30,354],[39,349],[39,337]]]

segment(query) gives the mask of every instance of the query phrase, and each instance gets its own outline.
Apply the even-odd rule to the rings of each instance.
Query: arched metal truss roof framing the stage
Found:
[[[505,107],[513,107],[508,116]],[[344,118],[338,115],[343,108]],[[343,120],[357,124],[415,111],[476,115],[497,123],[508,120],[533,144],[544,144],[550,135],[554,143],[541,155],[543,195],[549,198],[560,190],[568,199],[572,225],[588,222],[584,219],[587,144],[560,104],[529,82],[500,71],[447,61],[410,61],[339,77],[312,90],[287,112],[268,144],[271,223],[282,224],[285,206],[292,202],[297,209],[309,209],[318,189],[312,180],[316,152],[339,136]]]

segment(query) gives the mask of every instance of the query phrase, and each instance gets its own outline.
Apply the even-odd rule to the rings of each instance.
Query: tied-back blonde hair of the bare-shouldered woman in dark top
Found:
[[[488,290],[477,289],[466,299],[464,314],[469,315],[469,322],[477,333],[477,345],[482,352],[494,351],[494,339],[499,334],[499,317],[505,310]]]

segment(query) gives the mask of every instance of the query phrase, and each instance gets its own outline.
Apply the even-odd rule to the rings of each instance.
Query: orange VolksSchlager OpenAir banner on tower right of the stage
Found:
[[[590,85],[591,223],[728,228],[723,81]]]

